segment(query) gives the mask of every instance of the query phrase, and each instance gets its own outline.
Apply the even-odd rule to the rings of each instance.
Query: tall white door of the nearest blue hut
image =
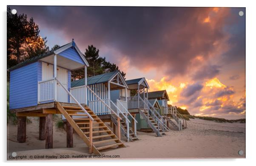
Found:
[[[68,89],[68,70],[57,68],[57,79]],[[68,93],[60,84],[57,84],[57,101],[68,102]]]

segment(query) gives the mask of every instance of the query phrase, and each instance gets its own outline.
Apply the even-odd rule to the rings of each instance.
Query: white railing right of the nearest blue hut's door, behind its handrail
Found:
[[[85,86],[72,87],[70,93],[82,104],[85,104]],[[75,103],[73,98],[70,98],[71,103]]]

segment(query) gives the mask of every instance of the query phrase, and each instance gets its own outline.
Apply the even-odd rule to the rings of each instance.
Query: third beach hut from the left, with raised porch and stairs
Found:
[[[137,119],[138,123],[141,118],[145,119],[146,123],[156,135],[162,136],[164,131],[168,131],[169,129],[164,124],[164,119],[148,101],[149,85],[146,79],[143,77],[126,80],[125,82],[128,85],[128,96],[126,97],[128,112],[131,113],[134,119]],[[115,101],[117,99],[125,100],[122,90],[116,90],[111,93],[111,100]],[[134,125],[133,130],[136,131],[136,128],[137,126]]]

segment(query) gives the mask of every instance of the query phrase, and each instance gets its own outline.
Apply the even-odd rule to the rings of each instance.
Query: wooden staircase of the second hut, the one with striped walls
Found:
[[[127,124],[125,122],[125,118],[122,115],[119,115],[122,120],[120,120],[120,131],[125,138],[127,138]],[[113,115],[111,115],[111,121],[117,126],[117,118],[115,118]],[[134,134],[134,132],[129,127],[129,140],[126,140],[127,142],[131,141],[137,141],[139,138]]]

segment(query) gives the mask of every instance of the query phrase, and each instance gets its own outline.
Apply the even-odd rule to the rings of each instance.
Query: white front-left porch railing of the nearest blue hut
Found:
[[[38,102],[54,100],[55,79],[47,79],[38,82]]]

